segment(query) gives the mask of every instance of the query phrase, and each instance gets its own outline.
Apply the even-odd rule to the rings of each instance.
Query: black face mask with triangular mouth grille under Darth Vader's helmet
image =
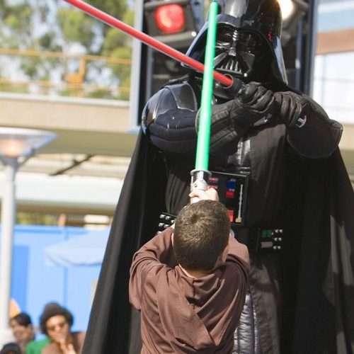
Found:
[[[246,79],[267,52],[257,33],[223,26],[217,31],[214,67],[218,72]]]

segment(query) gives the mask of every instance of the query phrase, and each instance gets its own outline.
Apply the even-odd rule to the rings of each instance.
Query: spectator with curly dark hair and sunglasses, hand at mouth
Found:
[[[81,353],[85,332],[72,332],[74,316],[59,304],[50,304],[40,315],[40,329],[51,342],[42,349],[42,354]]]

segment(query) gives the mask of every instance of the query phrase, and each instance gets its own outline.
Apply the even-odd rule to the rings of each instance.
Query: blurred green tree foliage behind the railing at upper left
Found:
[[[89,0],[89,4],[132,25],[134,15],[126,0]],[[13,57],[11,66],[24,80],[65,79],[79,70],[79,56],[98,55],[130,59],[131,40],[119,30],[91,18],[62,0],[0,0],[0,47],[23,51],[57,52],[62,55],[23,55]],[[72,59],[63,59],[76,56]],[[3,59],[0,56],[0,61]],[[86,60],[85,83],[129,85],[130,65],[112,60]],[[0,78],[8,76],[8,65],[0,62]],[[64,89],[62,92],[64,92]],[[98,89],[97,96],[101,95]],[[90,93],[95,96],[95,93]],[[105,96],[106,93],[105,93]],[[126,96],[126,95],[125,95]],[[121,98],[116,96],[116,98]]]

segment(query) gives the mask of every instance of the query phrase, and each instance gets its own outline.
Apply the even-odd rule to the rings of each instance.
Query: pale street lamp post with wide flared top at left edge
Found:
[[[0,344],[7,340],[11,296],[13,227],[16,216],[16,171],[36,150],[55,139],[42,130],[0,127],[0,161],[4,164],[4,195],[1,200]]]

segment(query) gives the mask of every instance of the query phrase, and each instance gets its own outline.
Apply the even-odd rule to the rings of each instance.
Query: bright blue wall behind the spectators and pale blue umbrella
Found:
[[[103,232],[108,234],[109,229]],[[45,304],[59,302],[74,314],[73,329],[86,330],[93,285],[101,265],[47,265],[44,250],[59,242],[90,234],[97,234],[97,231],[80,227],[15,227],[11,297],[21,310],[32,316],[35,325],[38,325]]]

